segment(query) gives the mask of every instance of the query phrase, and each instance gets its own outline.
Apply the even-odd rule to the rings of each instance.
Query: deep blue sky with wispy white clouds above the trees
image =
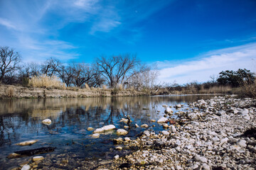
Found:
[[[0,46],[23,62],[136,54],[159,83],[256,72],[255,0],[0,0]]]

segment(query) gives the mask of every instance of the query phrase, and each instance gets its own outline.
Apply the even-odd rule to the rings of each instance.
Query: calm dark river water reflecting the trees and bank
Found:
[[[208,99],[213,96],[151,96],[122,98],[52,98],[52,99],[18,99],[0,101],[0,167],[7,169],[18,166],[29,159],[7,159],[6,157],[19,150],[38,147],[56,147],[50,154],[69,153],[75,157],[95,159],[112,159],[117,152],[112,143],[115,133],[100,135],[100,138],[90,137],[92,131],[88,127],[101,128],[103,125],[115,125],[124,128],[119,123],[124,115],[129,114],[134,123],[156,125],[154,130],[163,130],[161,125],[150,123],[164,115],[162,105],[175,106]],[[149,110],[144,110],[148,108]],[[172,108],[174,113],[178,110]],[[160,111],[158,113],[157,111]],[[50,118],[51,125],[43,125],[42,120]],[[174,115],[175,118],[175,115]],[[135,139],[135,135],[143,128],[130,128],[127,137]],[[31,146],[17,146],[18,142],[38,140]],[[129,151],[121,151],[122,154]],[[41,154],[44,156],[44,154]],[[1,169],[0,168],[0,169]]]

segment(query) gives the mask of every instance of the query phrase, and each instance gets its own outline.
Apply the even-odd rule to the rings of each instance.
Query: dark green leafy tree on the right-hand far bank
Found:
[[[226,70],[225,72],[220,72],[219,75],[217,81],[220,85],[238,87],[244,83],[251,84],[255,81],[255,74],[247,69],[238,69],[238,71]]]

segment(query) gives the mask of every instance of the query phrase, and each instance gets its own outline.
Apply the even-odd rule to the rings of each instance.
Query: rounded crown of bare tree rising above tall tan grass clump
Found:
[[[46,62],[42,64],[41,73],[52,77],[53,74],[57,74],[60,71],[61,65],[62,63],[60,60],[50,57],[50,59],[46,60]]]

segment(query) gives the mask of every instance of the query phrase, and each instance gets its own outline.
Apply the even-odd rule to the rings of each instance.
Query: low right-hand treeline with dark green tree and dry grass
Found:
[[[256,97],[255,73],[248,69],[226,70],[210,76],[210,81],[188,84],[163,84],[157,86],[157,94],[240,94]]]

